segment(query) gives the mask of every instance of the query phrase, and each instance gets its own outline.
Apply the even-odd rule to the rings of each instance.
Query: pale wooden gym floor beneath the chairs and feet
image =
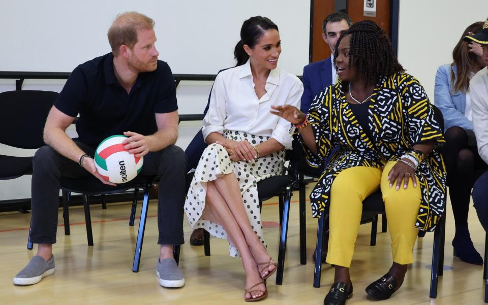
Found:
[[[311,186],[308,187],[308,192]],[[140,205],[138,206],[140,212]],[[92,206],[95,246],[86,244],[83,209],[70,209],[71,235],[65,236],[62,226],[57,230],[53,253],[56,273],[33,286],[15,286],[12,278],[35,254],[27,250],[29,214],[0,214],[0,304],[243,304],[244,273],[239,259],[228,255],[224,240],[211,239],[211,256],[204,256],[203,246],[190,246],[191,229],[185,220],[187,243],[181,248],[180,269],[186,285],[179,289],[159,286],[156,278],[157,204],[151,200],[146,224],[139,273],[132,272],[132,260],[138,220],[129,226],[130,203],[109,204],[107,210]],[[430,266],[433,233],[426,234],[415,245],[415,262],[410,266],[405,283],[381,305],[395,304],[483,304],[482,266],[464,263],[452,256],[450,245],[454,221],[448,202],[444,276],[440,277],[437,299],[429,298]],[[268,281],[268,297],[263,304],[322,304],[333,282],[333,268],[324,264],[322,286],[314,288],[314,264],[317,221],[307,213],[307,265],[300,265],[298,243],[298,192],[292,199],[288,247],[283,285],[275,285],[275,276]],[[265,202],[262,209],[268,251],[278,259],[278,198]],[[380,221],[381,222],[381,221]],[[59,213],[62,223],[62,213]],[[365,287],[382,276],[391,265],[390,237],[378,233],[377,245],[370,246],[371,224],[362,225],[351,266],[354,295],[347,304],[374,304],[364,292]],[[479,253],[484,251],[484,231],[474,208],[469,215],[471,237]],[[381,224],[378,225],[380,231]],[[450,269],[452,268],[452,269]]]

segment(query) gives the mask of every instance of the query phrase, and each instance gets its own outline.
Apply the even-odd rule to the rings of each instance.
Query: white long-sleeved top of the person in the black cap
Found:
[[[478,71],[469,82],[473,126],[478,144],[478,153],[488,163],[488,70]]]

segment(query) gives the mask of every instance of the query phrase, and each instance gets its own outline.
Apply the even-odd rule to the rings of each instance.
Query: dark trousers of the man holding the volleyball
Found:
[[[95,148],[77,142],[84,152],[94,155]],[[171,145],[144,156],[142,175],[158,175],[158,244],[181,245],[183,238],[183,206],[185,204],[185,174],[187,160],[184,151]],[[78,163],[60,155],[50,146],[41,147],[33,158],[32,231],[36,244],[56,243],[60,178],[83,178],[91,175]],[[100,182],[102,183],[102,182]]]

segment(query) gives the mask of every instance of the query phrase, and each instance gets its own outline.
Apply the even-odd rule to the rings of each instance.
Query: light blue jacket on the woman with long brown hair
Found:
[[[434,87],[434,104],[444,116],[444,125],[447,130],[452,126],[473,130],[473,123],[464,116],[466,107],[466,94],[454,90],[454,82],[451,82],[451,71],[456,76],[455,65],[444,64],[437,69],[436,85]]]

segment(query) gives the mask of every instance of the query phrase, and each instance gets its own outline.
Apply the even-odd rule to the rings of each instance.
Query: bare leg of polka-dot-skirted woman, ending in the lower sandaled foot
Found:
[[[258,267],[246,242],[246,238],[242,234],[242,230],[229,210],[226,201],[212,181],[207,183],[207,195],[205,199],[206,207],[202,218],[221,224],[229,235],[229,238],[234,246],[239,250],[242,258],[242,265],[244,267],[244,271],[246,272],[246,287],[251,287],[262,282]],[[263,291],[266,290],[266,286],[261,284],[253,288],[253,290],[260,291],[254,291],[251,294],[248,293],[244,297],[260,297],[263,294]]]

